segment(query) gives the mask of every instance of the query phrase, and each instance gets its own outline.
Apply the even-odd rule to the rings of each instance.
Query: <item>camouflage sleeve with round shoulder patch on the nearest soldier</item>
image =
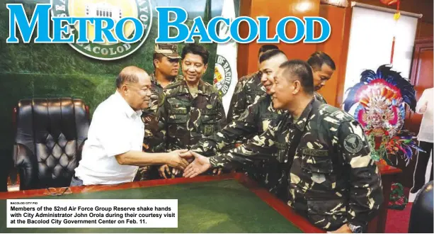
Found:
[[[370,145],[358,122],[343,122],[338,141],[350,179],[348,222],[366,227],[377,215],[384,199],[379,169],[370,156]]]

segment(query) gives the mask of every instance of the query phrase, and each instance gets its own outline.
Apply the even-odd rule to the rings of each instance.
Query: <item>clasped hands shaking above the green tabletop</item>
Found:
[[[178,174],[183,171],[183,177],[193,178],[199,174],[206,172],[211,168],[210,159],[202,156],[191,150],[173,150],[168,152],[166,165],[159,168],[161,177],[167,178],[165,172],[169,172],[169,167],[173,167],[172,174]],[[215,169],[215,173],[220,173],[221,170]]]

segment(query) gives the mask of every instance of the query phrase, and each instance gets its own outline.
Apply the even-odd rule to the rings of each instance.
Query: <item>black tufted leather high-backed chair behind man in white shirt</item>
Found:
[[[80,99],[23,99],[15,108],[13,162],[20,190],[69,186],[90,125]]]

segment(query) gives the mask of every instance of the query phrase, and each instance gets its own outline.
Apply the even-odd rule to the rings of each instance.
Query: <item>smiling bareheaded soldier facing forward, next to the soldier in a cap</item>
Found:
[[[181,57],[184,79],[164,89],[157,111],[166,152],[190,149],[200,139],[226,125],[219,91],[201,79],[207,69],[208,51],[201,45],[188,44],[183,48]],[[176,174],[164,165],[160,174],[166,178],[166,173]]]

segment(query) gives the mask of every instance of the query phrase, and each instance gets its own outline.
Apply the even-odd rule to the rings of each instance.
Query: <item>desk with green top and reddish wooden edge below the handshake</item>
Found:
[[[0,192],[0,233],[326,233],[241,173]],[[178,199],[178,228],[6,228],[5,199]]]

